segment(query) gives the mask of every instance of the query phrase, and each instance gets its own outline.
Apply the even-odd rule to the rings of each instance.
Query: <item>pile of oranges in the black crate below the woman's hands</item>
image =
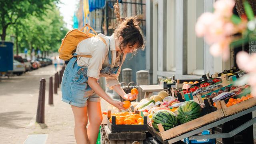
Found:
[[[117,112],[112,113],[111,116],[116,116],[116,124],[143,124],[142,116],[134,112]],[[112,117],[109,121],[112,123]]]

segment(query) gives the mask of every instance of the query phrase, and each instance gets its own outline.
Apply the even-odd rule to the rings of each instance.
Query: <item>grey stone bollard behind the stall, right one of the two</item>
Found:
[[[136,72],[136,82],[137,86],[140,85],[149,85],[149,72],[146,70],[140,70]],[[136,101],[140,101],[144,98],[144,92],[142,92],[141,88],[139,88],[139,95]]]

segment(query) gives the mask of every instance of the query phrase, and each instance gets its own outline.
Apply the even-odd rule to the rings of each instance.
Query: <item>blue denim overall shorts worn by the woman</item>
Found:
[[[74,56],[77,54],[75,53]],[[108,51],[108,65],[100,70],[100,77],[108,77],[116,74],[122,63],[123,54],[120,56],[120,65],[118,67],[111,68],[112,54]],[[73,57],[65,68],[62,83],[62,101],[72,106],[84,107],[87,106],[87,101],[100,102],[100,96],[98,96],[88,84],[87,67],[78,66],[76,63],[77,58]]]

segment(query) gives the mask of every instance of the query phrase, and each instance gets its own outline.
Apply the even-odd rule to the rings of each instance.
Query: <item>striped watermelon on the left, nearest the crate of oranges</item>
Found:
[[[158,130],[157,124],[162,124],[164,130],[169,130],[178,124],[177,117],[170,110],[158,110],[151,119],[152,126]]]

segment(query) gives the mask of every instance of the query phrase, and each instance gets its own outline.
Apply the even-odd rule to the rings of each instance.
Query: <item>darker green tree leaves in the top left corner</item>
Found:
[[[1,39],[5,40],[8,26],[28,15],[41,16],[54,2],[58,0],[0,0]]]

